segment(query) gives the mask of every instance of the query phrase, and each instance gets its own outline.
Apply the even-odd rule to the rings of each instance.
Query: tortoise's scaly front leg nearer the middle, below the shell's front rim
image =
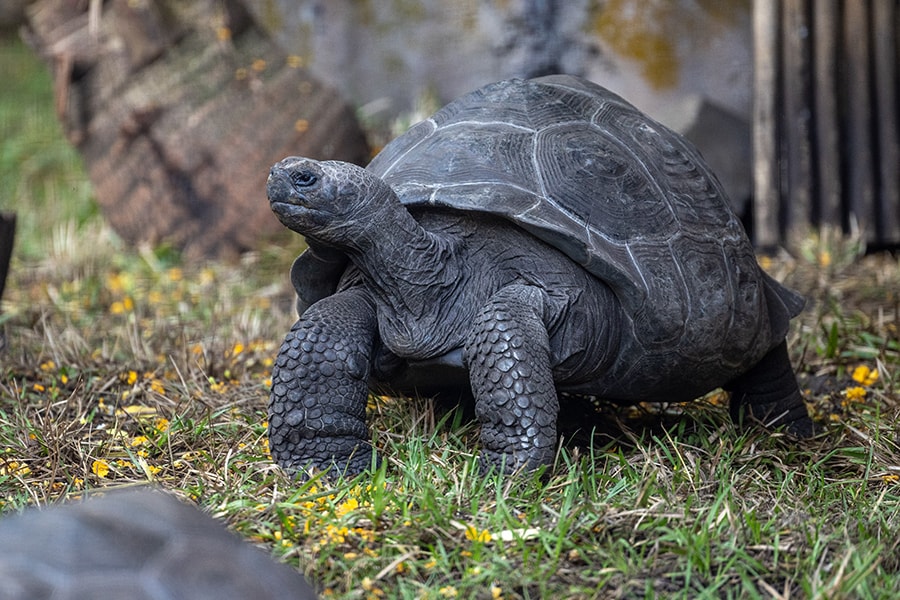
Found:
[[[559,402],[543,313],[543,291],[505,287],[476,317],[466,340],[485,470],[533,470],[553,462]]]

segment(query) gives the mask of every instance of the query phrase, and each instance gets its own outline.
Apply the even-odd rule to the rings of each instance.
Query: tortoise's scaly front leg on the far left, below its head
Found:
[[[313,304],[272,369],[269,449],[282,468],[356,474],[371,466],[366,429],[375,308],[357,290]]]

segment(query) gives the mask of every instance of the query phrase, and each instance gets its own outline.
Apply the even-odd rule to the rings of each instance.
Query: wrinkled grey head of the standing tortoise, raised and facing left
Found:
[[[266,193],[285,227],[338,245],[352,241],[392,198],[399,205],[390,187],[362,167],[295,156],[272,167]]]

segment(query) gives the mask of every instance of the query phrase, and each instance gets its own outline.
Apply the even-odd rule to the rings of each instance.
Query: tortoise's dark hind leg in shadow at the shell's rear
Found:
[[[754,419],[767,427],[784,427],[788,433],[801,438],[813,435],[813,422],[797,386],[786,342],[776,346],[725,389],[731,394],[729,408],[735,423],[741,424],[747,408]]]

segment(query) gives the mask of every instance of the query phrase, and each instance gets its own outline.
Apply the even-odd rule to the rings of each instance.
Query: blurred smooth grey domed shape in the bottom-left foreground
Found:
[[[163,492],[0,520],[4,600],[313,600],[303,577]]]

